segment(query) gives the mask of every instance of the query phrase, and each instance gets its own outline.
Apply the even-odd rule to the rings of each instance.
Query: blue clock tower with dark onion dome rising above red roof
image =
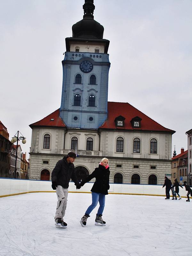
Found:
[[[98,129],[107,118],[109,41],[94,20],[93,0],[85,0],[84,16],[67,37],[60,117],[67,127]]]

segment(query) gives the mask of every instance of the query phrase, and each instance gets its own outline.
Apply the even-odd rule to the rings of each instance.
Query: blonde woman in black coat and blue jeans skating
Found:
[[[80,223],[84,227],[87,222],[87,218],[90,217],[90,213],[100,204],[98,212],[96,214],[95,225],[105,226],[106,222],[102,220],[102,213],[105,207],[105,195],[108,195],[109,189],[109,165],[108,159],[103,158],[99,164],[99,167],[90,174],[86,179],[82,180],[80,186],[83,186],[86,182],[95,178],[95,182],[92,186],[92,204],[87,208],[84,216],[81,218]]]

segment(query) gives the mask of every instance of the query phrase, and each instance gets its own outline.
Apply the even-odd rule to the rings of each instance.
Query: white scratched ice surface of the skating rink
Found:
[[[0,198],[0,256],[191,256],[192,200],[108,195],[106,226],[98,206],[82,227],[91,194],[69,193],[66,229],[55,228],[56,193]]]

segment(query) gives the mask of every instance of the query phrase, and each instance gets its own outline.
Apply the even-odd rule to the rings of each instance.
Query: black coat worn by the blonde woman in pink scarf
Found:
[[[84,179],[80,183],[80,185],[83,186],[86,182],[92,180],[93,178],[96,178],[91,191],[95,193],[108,195],[109,174],[109,167],[106,169],[103,165],[99,164],[99,167],[95,168],[92,174],[90,174],[86,179]]]

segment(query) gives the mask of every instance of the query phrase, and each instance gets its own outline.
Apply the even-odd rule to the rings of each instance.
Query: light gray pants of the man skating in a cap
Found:
[[[65,215],[66,205],[67,205],[67,197],[68,197],[68,188],[63,188],[62,186],[56,187],[57,194],[57,210],[55,212],[55,219],[61,218]]]

